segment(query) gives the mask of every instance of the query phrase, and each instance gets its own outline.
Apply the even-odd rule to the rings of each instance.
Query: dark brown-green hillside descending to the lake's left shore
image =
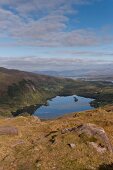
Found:
[[[43,104],[59,94],[65,83],[65,79],[0,68],[0,114]]]

